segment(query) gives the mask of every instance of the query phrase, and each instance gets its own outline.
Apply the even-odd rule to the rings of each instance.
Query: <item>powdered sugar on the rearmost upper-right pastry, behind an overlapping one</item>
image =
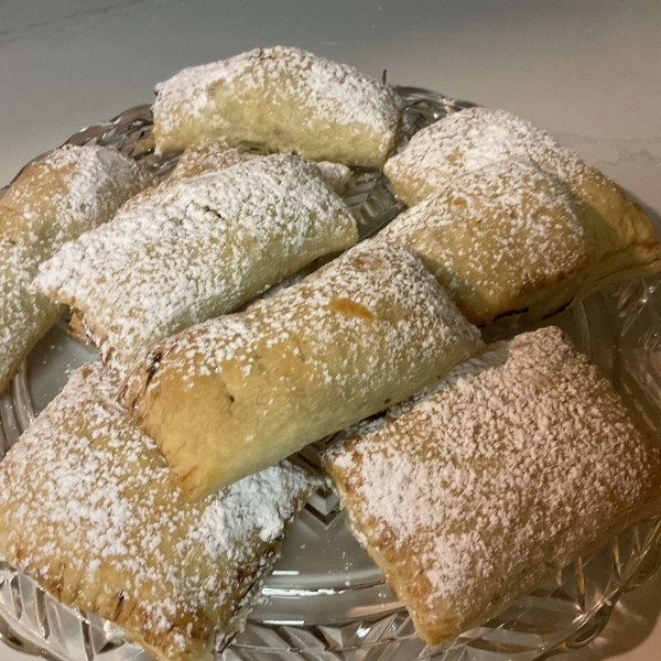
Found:
[[[575,185],[586,167],[573,151],[529,121],[506,110],[469,108],[415,133],[383,172],[398,196],[414,205],[457,176],[512,159],[531,160]]]

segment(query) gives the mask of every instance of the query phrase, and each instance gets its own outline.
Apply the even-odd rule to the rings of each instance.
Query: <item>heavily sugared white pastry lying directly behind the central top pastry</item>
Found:
[[[130,202],[43,264],[35,285],[73,308],[121,375],[161,339],[356,239],[356,221],[315,165],[271,155]]]

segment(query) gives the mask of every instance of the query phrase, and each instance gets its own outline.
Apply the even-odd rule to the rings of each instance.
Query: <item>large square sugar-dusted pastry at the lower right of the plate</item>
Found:
[[[658,510],[660,449],[551,327],[349,430],[326,466],[358,540],[437,644]]]

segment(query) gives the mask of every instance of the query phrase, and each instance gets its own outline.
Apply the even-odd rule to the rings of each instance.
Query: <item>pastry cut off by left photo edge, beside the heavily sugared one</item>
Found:
[[[61,313],[31,288],[39,264],[150,182],[115,151],[66,145],[26,167],[0,199],[0,392]]]

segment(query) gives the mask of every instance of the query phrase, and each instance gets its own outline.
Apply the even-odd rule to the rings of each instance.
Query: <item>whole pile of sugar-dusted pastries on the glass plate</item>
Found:
[[[437,644],[658,511],[660,446],[570,339],[477,327],[661,270],[619,186],[501,110],[401,149],[392,88],[296,48],[156,91],[167,180],[67,147],[0,201],[0,390],[64,306],[101,358],[0,464],[12,565],[159,660],[212,659],[318,486],[288,457],[340,432],[351,530]],[[359,245],[347,166],[410,205]]]

